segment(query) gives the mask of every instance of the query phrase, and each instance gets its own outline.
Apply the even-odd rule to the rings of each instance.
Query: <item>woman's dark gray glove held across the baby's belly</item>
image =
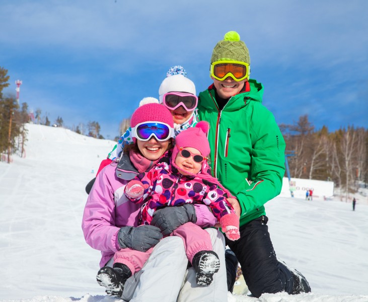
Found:
[[[195,214],[194,205],[187,203],[181,206],[168,206],[156,210],[151,225],[160,228],[162,234],[169,235],[187,222],[196,222],[197,216]]]

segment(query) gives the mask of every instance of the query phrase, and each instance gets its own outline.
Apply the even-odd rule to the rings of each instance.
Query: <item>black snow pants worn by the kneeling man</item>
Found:
[[[267,226],[261,216],[240,227],[240,239],[226,244],[238,258],[244,280],[255,297],[262,293],[292,292],[293,279],[287,267],[276,258]]]

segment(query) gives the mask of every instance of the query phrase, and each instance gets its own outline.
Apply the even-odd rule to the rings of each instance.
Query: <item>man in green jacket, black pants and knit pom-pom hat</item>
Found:
[[[264,204],[281,191],[285,141],[262,105],[262,84],[249,74],[248,48],[228,32],[212,52],[213,84],[199,94],[199,118],[210,124],[212,175],[236,197],[228,200],[240,215],[241,238],[227,244],[254,296],[309,292],[306,278],[277,260],[268,233]]]

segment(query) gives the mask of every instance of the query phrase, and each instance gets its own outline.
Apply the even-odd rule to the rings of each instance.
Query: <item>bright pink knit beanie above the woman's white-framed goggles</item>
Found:
[[[169,109],[157,103],[144,104],[138,107],[130,119],[130,127],[143,122],[162,122],[174,128],[173,116]]]

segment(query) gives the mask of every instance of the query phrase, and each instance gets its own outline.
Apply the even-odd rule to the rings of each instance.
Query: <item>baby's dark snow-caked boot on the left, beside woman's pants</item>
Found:
[[[122,263],[115,263],[113,268],[104,266],[96,276],[98,284],[106,288],[110,296],[121,297],[125,281],[131,276],[130,269]]]

